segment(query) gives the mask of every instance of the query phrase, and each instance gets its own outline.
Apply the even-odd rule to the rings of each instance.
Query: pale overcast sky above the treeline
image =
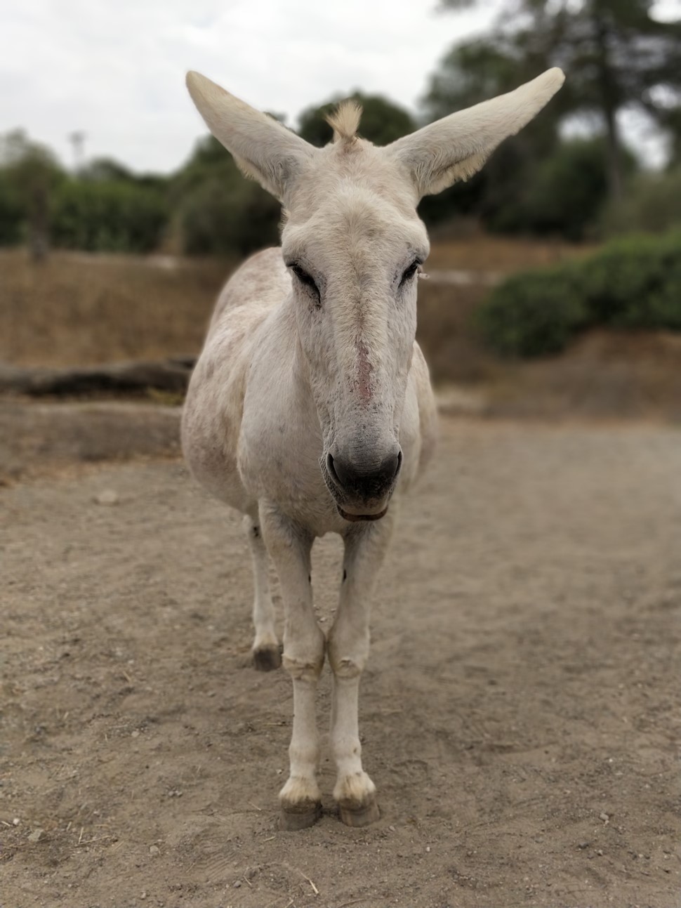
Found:
[[[184,88],[196,69],[263,110],[298,114],[360,88],[412,110],[458,39],[503,0],[0,0],[0,133],[24,127],[73,163],[172,171],[205,133]],[[679,0],[661,0],[663,11]]]

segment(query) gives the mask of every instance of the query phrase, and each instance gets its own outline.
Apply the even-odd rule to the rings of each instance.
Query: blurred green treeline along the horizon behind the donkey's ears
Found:
[[[442,0],[447,12],[475,0]],[[569,78],[533,123],[503,143],[469,183],[427,198],[421,215],[440,235],[486,232],[580,242],[681,219],[681,24],[658,22],[651,0],[515,0],[488,34],[451,48],[429,78],[418,117],[356,92],[360,132],[390,143],[423,123],[502,94],[552,65]],[[298,132],[321,145],[340,97],[303,112]],[[666,140],[665,170],[644,173],[622,139],[636,110]],[[0,142],[0,245],[89,252],[244,255],[276,242],[280,209],[244,181],[211,136],[176,173],[134,174],[97,160],[68,173],[21,131]]]

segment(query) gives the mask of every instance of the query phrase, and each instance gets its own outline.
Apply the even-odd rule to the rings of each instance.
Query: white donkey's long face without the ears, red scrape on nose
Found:
[[[341,516],[380,518],[400,472],[400,415],[429,252],[408,176],[354,135],[328,145],[291,193],[281,236]]]

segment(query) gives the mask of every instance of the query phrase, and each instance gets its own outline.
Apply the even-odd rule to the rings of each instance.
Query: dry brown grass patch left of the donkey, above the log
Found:
[[[0,361],[26,366],[163,359],[201,348],[229,266],[0,252]]]

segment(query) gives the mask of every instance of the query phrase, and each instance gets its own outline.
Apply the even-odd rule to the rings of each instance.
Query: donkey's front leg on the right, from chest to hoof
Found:
[[[327,643],[333,671],[331,750],[338,771],[333,796],[349,826],[366,826],[380,816],[376,786],[361,766],[358,699],[369,656],[370,597],[391,528],[392,515],[355,525],[345,537],[341,601]]]

